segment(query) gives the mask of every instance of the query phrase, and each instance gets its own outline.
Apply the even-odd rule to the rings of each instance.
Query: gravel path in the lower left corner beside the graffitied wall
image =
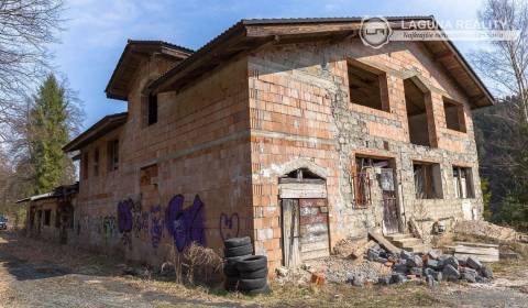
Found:
[[[233,307],[230,301],[194,299],[144,287],[141,279],[125,276],[84,274],[43,261],[32,240],[0,233],[0,307]],[[28,254],[35,254],[35,260]],[[40,254],[41,257],[36,257]],[[88,266],[87,268],[90,268]],[[80,273],[78,273],[80,272]]]

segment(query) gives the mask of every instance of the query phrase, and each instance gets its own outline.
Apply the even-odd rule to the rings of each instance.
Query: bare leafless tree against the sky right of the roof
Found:
[[[515,103],[528,123],[528,6],[524,0],[487,0],[479,14],[490,31],[519,31],[512,41],[492,41],[488,50],[472,54],[477,70]]]

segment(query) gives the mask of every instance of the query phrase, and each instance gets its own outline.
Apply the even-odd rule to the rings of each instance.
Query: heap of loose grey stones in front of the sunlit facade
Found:
[[[374,245],[366,251],[366,260],[382,263],[392,270],[389,275],[378,277],[382,285],[425,279],[429,286],[435,286],[441,280],[487,283],[493,278],[492,270],[473,257],[463,260],[433,252],[410,253],[404,250],[391,253]],[[362,275],[351,275],[348,283],[361,286],[365,278]]]

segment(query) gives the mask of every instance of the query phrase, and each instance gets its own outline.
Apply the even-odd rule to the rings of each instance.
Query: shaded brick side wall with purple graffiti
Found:
[[[185,198],[184,209],[199,196],[200,222],[186,230],[202,226],[209,248],[220,249],[222,237],[252,235],[253,229],[246,61],[210,72],[179,92],[161,94],[158,121],[146,127],[142,91],[164,65],[154,58],[142,66],[129,96],[129,119],[112,133],[120,136],[119,170],[81,180],[77,217],[79,241],[154,264],[169,260],[175,246],[165,210],[176,195]],[[82,152],[91,155],[109,138]],[[102,148],[100,160],[106,163]],[[117,207],[128,198],[141,207],[133,211],[133,230],[123,234]]]

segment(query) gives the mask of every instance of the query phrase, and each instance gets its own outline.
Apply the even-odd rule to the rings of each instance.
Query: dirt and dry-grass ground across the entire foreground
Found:
[[[359,288],[272,283],[267,296],[123,275],[106,255],[0,232],[0,307],[528,307],[528,262],[493,265],[492,284]]]

